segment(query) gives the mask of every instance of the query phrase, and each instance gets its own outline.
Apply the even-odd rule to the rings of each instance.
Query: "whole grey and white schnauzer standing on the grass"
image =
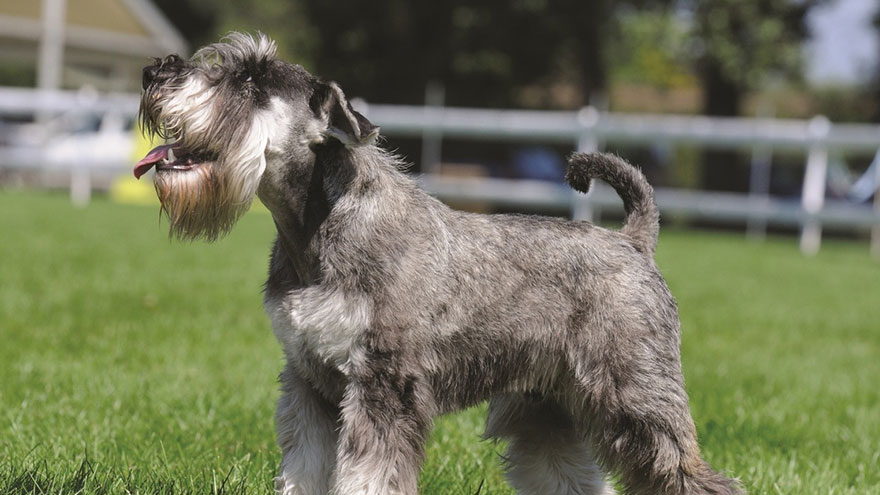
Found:
[[[172,235],[215,240],[258,196],[272,212],[265,307],[281,374],[285,495],[417,493],[432,418],[489,400],[519,493],[732,494],[702,460],[679,321],[635,168],[576,154],[613,186],[620,232],[454,211],[376,145],[342,90],[233,33],[144,69],[141,120]]]

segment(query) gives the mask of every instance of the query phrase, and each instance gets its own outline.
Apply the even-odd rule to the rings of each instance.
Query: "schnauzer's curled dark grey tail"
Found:
[[[653,255],[660,230],[660,212],[654,202],[654,189],[645,176],[623,158],[610,153],[572,153],[565,174],[568,184],[585,193],[594,178],[607,182],[623,200],[626,219],[621,232],[632,239],[636,249]]]

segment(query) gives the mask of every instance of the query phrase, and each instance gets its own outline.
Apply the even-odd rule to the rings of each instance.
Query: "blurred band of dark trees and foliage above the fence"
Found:
[[[705,110],[736,114],[745,91],[800,79],[806,13],[827,0],[157,1],[195,46],[259,29],[376,102],[420,104],[439,82],[450,105],[572,107],[609,71],[675,87],[691,65]]]

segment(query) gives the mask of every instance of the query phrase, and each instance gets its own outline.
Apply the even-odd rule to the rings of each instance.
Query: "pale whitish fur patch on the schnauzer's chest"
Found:
[[[321,287],[268,295],[265,307],[288,357],[311,355],[341,371],[372,313],[365,298]]]

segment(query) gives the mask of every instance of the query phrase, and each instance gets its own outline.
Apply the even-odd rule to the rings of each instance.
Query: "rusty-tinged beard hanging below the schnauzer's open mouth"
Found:
[[[182,240],[222,237],[250,208],[254,193],[249,185],[218,173],[210,162],[184,172],[157,173],[154,184],[170,235]]]

